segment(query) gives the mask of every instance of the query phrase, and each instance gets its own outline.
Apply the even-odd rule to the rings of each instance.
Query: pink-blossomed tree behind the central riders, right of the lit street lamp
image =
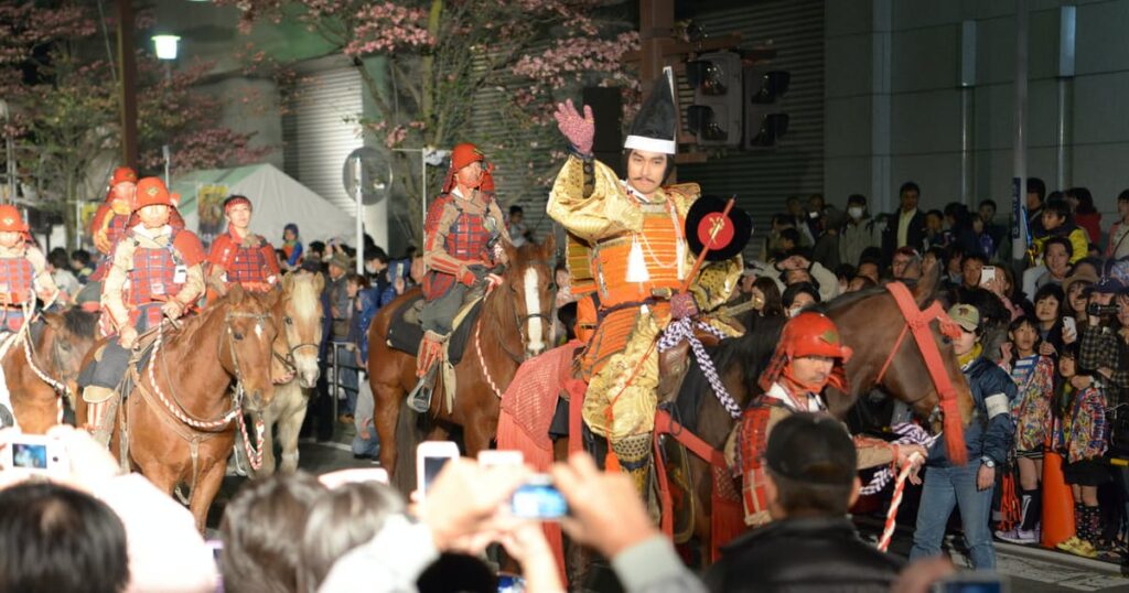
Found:
[[[550,149],[563,148],[550,127],[554,101],[588,85],[636,99],[622,55],[638,36],[602,18],[602,0],[217,1],[243,10],[244,32],[297,20],[351,59],[375,105],[355,121],[394,163],[405,195],[431,194],[440,180],[420,188],[418,157],[395,148],[474,141],[493,160],[524,163],[500,173],[528,189],[548,177]],[[402,202],[419,220],[419,201]],[[418,225],[406,226],[418,239]]]

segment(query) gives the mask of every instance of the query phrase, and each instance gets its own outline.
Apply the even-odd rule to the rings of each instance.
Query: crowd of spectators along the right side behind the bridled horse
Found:
[[[899,189],[895,211],[877,216],[859,194],[843,210],[822,197],[806,209],[789,199],[746,262],[739,298],[769,316],[884,280],[912,285],[922,270],[940,269],[938,296],[961,307],[951,315],[969,343],[955,340],[954,349],[983,429],[969,437],[970,468],[930,457],[914,557],[939,552],[954,506],[975,566],[994,566],[992,535],[1040,542],[1044,477],[1074,494],[1076,534],[1058,548],[1126,556],[1129,474],[1118,460],[1129,455],[1129,190],[1104,234],[1087,189],[1048,193],[1032,177],[1027,192],[1021,265],[1010,256],[1015,223],[997,219],[996,202],[924,210],[913,182]],[[1004,387],[1000,375],[1009,377]],[[978,386],[986,381],[996,386]],[[1043,472],[1048,453],[1061,455],[1061,476]]]

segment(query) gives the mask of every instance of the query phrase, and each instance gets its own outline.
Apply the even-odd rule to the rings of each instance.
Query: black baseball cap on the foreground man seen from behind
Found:
[[[764,463],[777,476],[804,483],[849,485],[858,472],[847,428],[825,413],[799,412],[777,422]]]

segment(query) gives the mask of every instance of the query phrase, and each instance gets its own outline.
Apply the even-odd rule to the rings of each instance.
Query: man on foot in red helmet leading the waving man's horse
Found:
[[[780,342],[761,374],[763,392],[753,399],[726,443],[726,461],[742,476],[745,524],[760,526],[772,520],[765,492],[763,454],[772,427],[796,412],[824,412],[823,390],[828,385],[847,391],[844,365],[851,349],[842,343],[839,329],[822,313],[805,311],[785,324]],[[893,447],[884,441],[858,439],[858,469],[904,463],[918,453],[919,445]]]

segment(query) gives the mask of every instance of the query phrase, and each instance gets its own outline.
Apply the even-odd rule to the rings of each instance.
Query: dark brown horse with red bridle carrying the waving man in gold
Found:
[[[924,307],[934,298],[937,274],[926,274],[913,289],[918,307]],[[843,295],[822,307],[838,325],[843,343],[854,348],[855,354],[846,366],[850,392],[828,389],[825,395],[831,413],[842,418],[859,395],[882,389],[890,395],[908,403],[916,416],[928,419],[939,403],[938,389],[926,368],[924,355],[912,338],[900,342],[891,352],[902,329],[904,317],[894,298],[878,287],[860,293]],[[758,325],[746,335],[723,342],[717,351],[718,369],[729,394],[744,408],[752,395],[759,393],[756,380],[779,340],[782,320],[760,319]],[[930,324],[937,341],[945,375],[956,390],[957,408],[963,424],[972,417],[972,394],[949,340],[938,328]],[[881,384],[876,381],[879,372],[889,366]],[[708,384],[700,385],[703,392],[697,402],[697,422],[693,433],[716,450],[721,450],[734,426],[734,419],[718,402]],[[688,393],[683,390],[683,393]],[[680,402],[681,403],[681,402]],[[682,408],[681,404],[676,404]],[[708,462],[689,454],[690,481],[693,487],[693,534],[700,542],[710,541],[710,514],[714,494],[714,470]],[[736,491],[739,483],[734,485]],[[708,553],[703,558],[708,558]]]

